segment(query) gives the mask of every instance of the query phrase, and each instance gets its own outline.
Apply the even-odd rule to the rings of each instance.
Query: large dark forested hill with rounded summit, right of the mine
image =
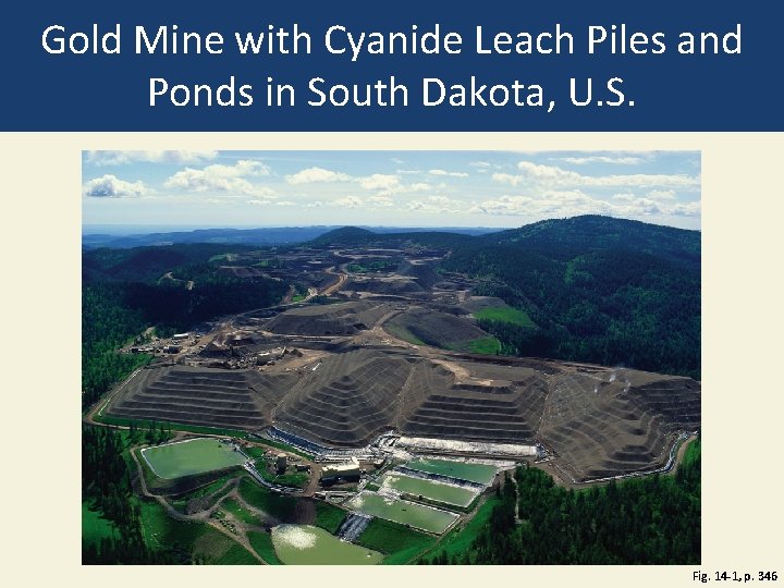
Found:
[[[510,353],[699,379],[700,266],[698,231],[588,216],[465,240],[441,269],[530,316],[482,324]]]

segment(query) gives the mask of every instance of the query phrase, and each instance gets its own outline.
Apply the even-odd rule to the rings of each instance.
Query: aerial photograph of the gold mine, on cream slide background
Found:
[[[81,237],[82,564],[700,563],[699,151],[83,151]]]

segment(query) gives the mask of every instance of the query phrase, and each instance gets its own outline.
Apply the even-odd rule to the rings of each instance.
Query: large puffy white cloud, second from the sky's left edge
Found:
[[[269,175],[269,173],[270,169],[259,161],[240,160],[234,166],[216,163],[200,170],[185,168],[167,179],[163,185],[184,192],[223,192],[247,196],[272,196],[272,189],[254,185],[247,180],[247,177],[258,177]]]

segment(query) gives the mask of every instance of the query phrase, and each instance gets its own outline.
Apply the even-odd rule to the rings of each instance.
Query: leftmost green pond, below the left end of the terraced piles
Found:
[[[241,465],[247,461],[231,444],[208,438],[149,448],[143,450],[142,455],[156,476],[166,479]]]

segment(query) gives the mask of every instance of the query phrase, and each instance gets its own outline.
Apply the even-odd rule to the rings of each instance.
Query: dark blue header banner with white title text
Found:
[[[29,2],[0,131],[783,131],[781,2]]]

